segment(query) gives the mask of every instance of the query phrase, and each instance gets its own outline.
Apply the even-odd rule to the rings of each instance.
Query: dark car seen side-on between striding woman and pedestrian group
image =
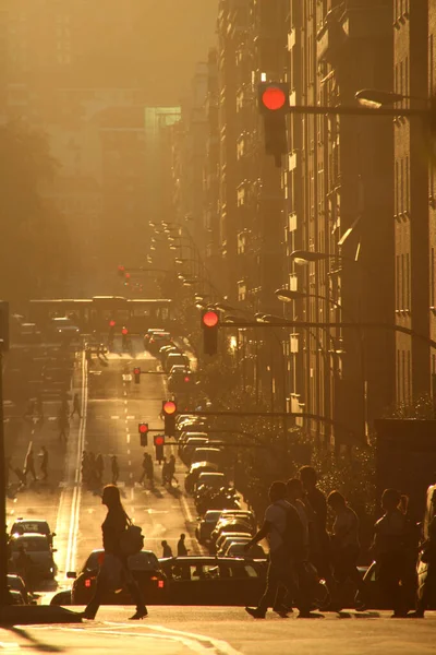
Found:
[[[238,558],[159,560],[169,605],[255,605],[265,587],[266,562]]]

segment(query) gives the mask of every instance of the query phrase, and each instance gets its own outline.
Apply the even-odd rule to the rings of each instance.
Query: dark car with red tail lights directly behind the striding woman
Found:
[[[71,590],[72,605],[87,605],[94,595],[98,568],[105,559],[102,549],[93,550],[84,563],[78,575],[69,571],[66,577],[74,579]],[[159,561],[152,550],[142,550],[129,558],[129,569],[138,583],[147,603],[164,603],[166,594],[166,576],[162,573]],[[106,592],[102,605],[126,605],[130,603],[130,594],[126,588],[121,592]]]

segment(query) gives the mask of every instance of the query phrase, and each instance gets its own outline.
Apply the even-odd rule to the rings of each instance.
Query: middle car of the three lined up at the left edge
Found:
[[[11,573],[16,573],[15,562],[21,548],[31,558],[29,576],[33,582],[44,579],[52,579],[56,575],[56,564],[53,552],[56,548],[51,547],[49,538],[46,535],[37,533],[24,533],[23,535],[13,535],[9,539],[11,549]]]

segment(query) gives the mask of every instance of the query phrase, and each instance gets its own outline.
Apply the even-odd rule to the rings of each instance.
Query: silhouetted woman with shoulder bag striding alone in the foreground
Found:
[[[105,549],[105,560],[97,575],[96,590],[92,600],[88,603],[82,617],[84,619],[94,619],[102,596],[108,588],[123,584],[128,587],[132,600],[136,604],[136,612],[130,617],[130,620],[136,621],[144,619],[148,612],[140,587],[133,580],[128,565],[128,555],[123,548],[123,538],[132,525],[120,498],[120,490],[116,485],[107,485],[102,490],[101,504],[108,508],[108,513],[101,525],[102,547]]]

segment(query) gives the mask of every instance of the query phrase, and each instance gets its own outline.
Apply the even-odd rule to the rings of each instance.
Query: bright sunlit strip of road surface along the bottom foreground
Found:
[[[64,652],[95,655],[426,655],[435,652],[436,616],[397,619],[382,612],[326,615],[324,619],[265,621],[243,608],[153,607],[147,619],[129,622],[130,609],[104,607],[97,621],[78,626],[2,630],[4,652]]]

